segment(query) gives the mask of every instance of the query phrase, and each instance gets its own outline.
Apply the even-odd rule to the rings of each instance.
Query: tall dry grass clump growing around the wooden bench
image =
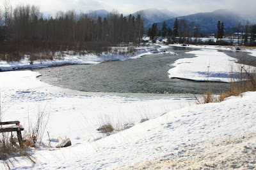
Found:
[[[4,166],[2,169],[12,169],[15,167],[14,163],[17,163],[15,157],[20,156],[33,164],[36,163],[35,158],[32,157],[32,152],[30,152],[28,148],[35,147],[35,139],[37,139],[38,143],[42,142],[49,115],[50,112],[47,111],[47,105],[45,105],[44,108],[38,107],[38,115],[35,124],[29,122],[27,131],[23,133],[23,137],[26,137],[24,148],[20,148],[17,138],[14,137],[17,136],[16,132],[0,133],[0,161],[3,162]],[[13,162],[13,160],[15,160],[15,162]]]

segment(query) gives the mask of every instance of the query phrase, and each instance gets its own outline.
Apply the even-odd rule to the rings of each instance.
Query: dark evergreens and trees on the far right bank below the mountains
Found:
[[[204,35],[200,32],[200,25],[195,22],[188,22],[184,18],[180,20],[176,18],[173,28],[167,27],[166,25],[166,22],[163,22],[162,25],[152,24],[152,27],[147,31],[147,35],[152,42],[156,43],[157,36],[161,36],[167,38],[168,43],[204,43],[198,39],[204,37]],[[218,21],[214,36],[217,39],[216,43],[212,41],[205,43],[209,43],[210,45],[233,45],[233,40],[236,36],[238,45],[256,46],[256,25],[250,25],[248,21],[244,22],[244,24],[239,22],[237,26],[225,32],[224,23]],[[225,37],[230,39],[230,43],[222,41]]]

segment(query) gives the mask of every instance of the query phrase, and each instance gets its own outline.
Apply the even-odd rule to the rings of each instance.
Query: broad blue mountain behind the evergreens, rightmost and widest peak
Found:
[[[216,10],[207,13],[195,13],[193,15],[186,15],[182,17],[177,17],[180,19],[185,19],[188,23],[195,22],[195,24],[199,24],[201,26],[201,32],[204,33],[214,33],[216,32],[217,23],[223,22],[225,26],[225,31],[232,27],[236,27],[239,22],[243,23],[245,20],[242,17],[239,17],[235,13],[229,10]],[[168,27],[173,28],[173,24],[176,18],[172,18],[169,20],[165,20]],[[162,25],[163,22],[157,23],[157,25]]]

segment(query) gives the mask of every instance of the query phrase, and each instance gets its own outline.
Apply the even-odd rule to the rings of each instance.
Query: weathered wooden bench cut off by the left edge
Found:
[[[15,125],[12,125],[15,124]],[[12,125],[11,127],[3,127],[3,125]],[[23,131],[24,128],[20,126],[19,121],[12,121],[12,122],[0,122],[0,132],[17,132],[18,141],[20,144],[20,148],[23,148],[23,141],[22,141],[22,134],[21,131]]]

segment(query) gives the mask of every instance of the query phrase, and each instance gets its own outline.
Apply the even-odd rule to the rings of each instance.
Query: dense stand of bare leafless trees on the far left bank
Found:
[[[95,18],[70,10],[44,18],[38,6],[19,5],[13,9],[7,0],[4,2],[0,11],[1,52],[86,50],[90,45],[138,44],[143,36],[141,15],[124,17],[113,11],[108,17]]]

